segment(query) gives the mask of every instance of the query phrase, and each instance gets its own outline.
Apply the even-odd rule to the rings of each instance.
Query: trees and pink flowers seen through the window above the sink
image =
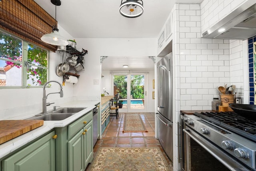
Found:
[[[43,85],[47,82],[48,52],[32,44],[28,44],[27,49],[28,56],[22,56],[22,41],[0,32],[0,58],[2,60],[7,59],[5,60],[6,65],[12,67],[21,68],[25,66],[27,70],[26,79],[30,80],[33,85]],[[27,85],[30,86],[30,84]]]

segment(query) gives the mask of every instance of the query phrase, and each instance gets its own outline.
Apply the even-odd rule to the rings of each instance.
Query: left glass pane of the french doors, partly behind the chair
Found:
[[[119,93],[120,100],[122,102],[122,108],[127,108],[127,76],[126,75],[114,75],[114,95]],[[119,106],[119,108],[121,108]]]

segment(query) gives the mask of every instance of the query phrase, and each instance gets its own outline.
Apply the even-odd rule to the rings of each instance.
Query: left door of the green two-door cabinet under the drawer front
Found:
[[[68,141],[68,171],[84,170],[84,129]]]

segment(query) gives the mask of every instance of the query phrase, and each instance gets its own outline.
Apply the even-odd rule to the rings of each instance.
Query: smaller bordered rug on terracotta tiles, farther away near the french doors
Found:
[[[147,130],[139,114],[126,114],[123,132],[147,132]]]

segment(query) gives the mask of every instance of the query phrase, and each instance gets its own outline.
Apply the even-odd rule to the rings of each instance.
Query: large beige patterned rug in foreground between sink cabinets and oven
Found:
[[[90,171],[171,171],[159,147],[101,147]]]

